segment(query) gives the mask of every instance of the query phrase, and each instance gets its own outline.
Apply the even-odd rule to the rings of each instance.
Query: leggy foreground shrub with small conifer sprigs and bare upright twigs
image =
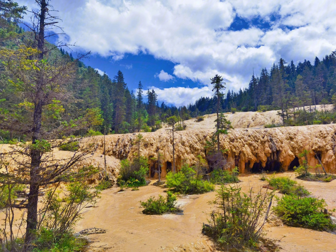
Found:
[[[273,193],[241,193],[241,187],[224,186],[216,191],[216,199],[210,204],[216,210],[210,213],[209,225],[203,223],[203,234],[213,238],[227,249],[255,248],[268,219],[268,204]]]

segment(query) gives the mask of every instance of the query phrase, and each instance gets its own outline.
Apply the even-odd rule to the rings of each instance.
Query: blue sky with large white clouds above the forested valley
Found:
[[[238,90],[280,57],[297,64],[336,49],[334,0],[50,2],[67,34],[58,39],[91,51],[86,65],[111,78],[120,69],[130,89],[141,80],[177,106],[211,96],[215,74]]]

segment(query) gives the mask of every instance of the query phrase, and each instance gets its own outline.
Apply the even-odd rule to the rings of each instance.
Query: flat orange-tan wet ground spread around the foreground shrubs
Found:
[[[277,176],[291,176],[286,172]],[[249,186],[258,190],[265,182],[259,175],[241,176],[242,190]],[[336,208],[336,180],[329,183],[301,181],[314,197],[324,198],[329,209]],[[208,204],[215,192],[185,196],[178,199],[183,214],[145,215],[139,201],[150,196],[165,195],[165,188],[152,184],[139,187],[139,191],[119,188],[103,191],[96,207],[86,208],[78,230],[97,227],[107,229],[105,234],[91,235],[99,241],[92,246],[110,247],[107,251],[215,251],[213,244],[201,234],[202,223],[207,223]],[[266,236],[279,240],[281,251],[336,251],[336,235],[305,228],[268,226]]]

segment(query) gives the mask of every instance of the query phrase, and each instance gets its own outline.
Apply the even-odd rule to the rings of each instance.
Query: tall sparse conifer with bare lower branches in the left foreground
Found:
[[[48,52],[52,49],[69,45],[57,44],[54,48],[46,46],[45,38],[57,35],[57,33],[50,34],[50,30],[61,29],[58,26],[60,19],[52,14],[54,10],[49,0],[35,0],[35,2],[40,9],[31,11],[30,30],[34,38],[27,41],[30,47],[21,46],[18,50],[1,51],[6,71],[14,80],[11,83],[16,87],[16,93],[25,97],[25,102],[32,109],[32,115],[27,116],[27,121],[17,122],[17,128],[22,127],[25,133],[31,135],[31,143],[15,145],[10,152],[1,154],[4,156],[3,160],[11,159],[15,163],[15,169],[0,174],[2,179],[9,179],[11,184],[29,186],[25,205],[26,243],[32,241],[34,230],[37,228],[37,204],[41,186],[67,181],[71,176],[75,176],[71,170],[88,153],[86,149],[81,149],[81,152],[76,152],[69,160],[56,160],[53,157],[53,150],[59,146],[60,141],[52,139],[87,128],[93,121],[93,125],[101,124],[101,119],[93,110],[87,111],[84,117],[71,123],[44,116],[48,106],[65,103],[74,97],[73,92],[69,92],[67,87],[72,81],[78,60],[88,54],[79,55],[79,58],[70,62],[66,59],[48,60]],[[15,119],[7,121],[14,122]],[[10,128],[11,125],[7,124],[7,127]],[[62,162],[64,164],[61,165]],[[78,178],[84,178],[87,172],[76,174],[79,174]]]

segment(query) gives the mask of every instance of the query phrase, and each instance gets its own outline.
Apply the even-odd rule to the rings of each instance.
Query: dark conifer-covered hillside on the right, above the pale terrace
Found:
[[[322,60],[316,57],[313,65],[304,60],[295,66],[293,60],[287,64],[281,58],[270,71],[265,68],[259,76],[253,74],[248,88],[238,92],[228,90],[221,101],[222,109],[224,112],[231,109],[243,112],[281,110],[283,122],[289,126],[315,124],[314,121],[330,123],[334,115],[325,111],[323,117],[312,112],[317,104],[336,103],[335,67],[336,51]],[[195,104],[190,104],[188,109],[211,113],[215,102],[213,98],[202,97]]]

